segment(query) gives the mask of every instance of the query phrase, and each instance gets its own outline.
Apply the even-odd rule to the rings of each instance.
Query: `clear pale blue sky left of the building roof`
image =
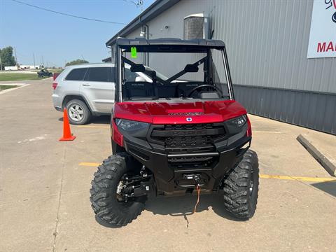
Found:
[[[20,0],[25,3],[111,22],[128,23],[140,8],[123,0]],[[137,0],[134,0],[137,1]],[[144,0],[144,9],[155,0]],[[64,66],[73,59],[102,62],[109,57],[105,42],[125,25],[80,20],[39,10],[11,0],[0,0],[0,48],[16,48],[20,64]]]

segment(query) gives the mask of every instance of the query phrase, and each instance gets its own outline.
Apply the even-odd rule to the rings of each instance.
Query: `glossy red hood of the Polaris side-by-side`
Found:
[[[113,118],[152,124],[221,123],[246,114],[236,101],[207,102],[119,102],[114,105]]]

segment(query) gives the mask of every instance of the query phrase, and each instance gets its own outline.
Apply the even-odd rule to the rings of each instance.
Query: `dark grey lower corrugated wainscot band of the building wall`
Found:
[[[234,85],[249,113],[336,134],[336,95]]]

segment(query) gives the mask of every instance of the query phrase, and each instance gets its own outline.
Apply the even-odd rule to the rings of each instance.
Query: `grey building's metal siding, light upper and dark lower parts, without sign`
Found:
[[[250,113],[336,134],[336,58],[307,59],[312,6],[312,0],[181,0],[148,22],[149,34],[183,38],[186,15],[209,14],[214,39],[227,45],[236,98]],[[150,59],[158,71],[169,64]]]

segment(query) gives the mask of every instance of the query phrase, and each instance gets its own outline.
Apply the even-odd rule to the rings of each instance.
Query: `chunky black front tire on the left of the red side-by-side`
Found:
[[[90,201],[97,218],[114,226],[131,223],[144,210],[146,197],[127,197],[123,186],[132,169],[125,158],[111,155],[94,174]]]

